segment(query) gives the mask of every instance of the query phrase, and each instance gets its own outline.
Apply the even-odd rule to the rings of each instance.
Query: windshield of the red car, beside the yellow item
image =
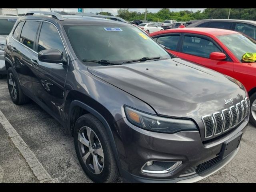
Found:
[[[229,34],[216,36],[235,56],[238,60],[242,60],[242,56],[246,52],[255,53],[256,44],[242,34]]]

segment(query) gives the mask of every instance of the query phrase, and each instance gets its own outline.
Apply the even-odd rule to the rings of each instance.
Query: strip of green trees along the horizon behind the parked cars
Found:
[[[157,13],[147,13],[146,20],[154,22],[163,22],[164,20],[190,21],[199,19],[227,19],[228,8],[208,8],[203,12],[191,12],[188,10],[180,12],[171,12],[170,9],[160,9]],[[118,15],[126,21],[144,20],[145,13],[131,12],[129,9],[119,9]],[[256,9],[234,8],[230,10],[230,19],[256,20]]]

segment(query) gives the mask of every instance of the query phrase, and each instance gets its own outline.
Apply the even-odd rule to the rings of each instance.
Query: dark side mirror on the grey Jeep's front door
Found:
[[[56,49],[45,49],[38,53],[38,60],[48,63],[66,63],[63,53]]]

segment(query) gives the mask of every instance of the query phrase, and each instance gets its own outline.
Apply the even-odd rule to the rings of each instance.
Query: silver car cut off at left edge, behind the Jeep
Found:
[[[17,16],[0,16],[0,78],[2,78],[2,75],[6,74],[4,62],[6,37],[11,32],[17,18]]]

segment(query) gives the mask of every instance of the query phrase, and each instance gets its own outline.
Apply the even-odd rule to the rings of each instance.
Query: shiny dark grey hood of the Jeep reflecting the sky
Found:
[[[237,80],[180,58],[88,67],[98,78],[149,104],[157,114],[192,118],[229,108],[246,97]],[[120,98],[121,99],[121,98]]]

